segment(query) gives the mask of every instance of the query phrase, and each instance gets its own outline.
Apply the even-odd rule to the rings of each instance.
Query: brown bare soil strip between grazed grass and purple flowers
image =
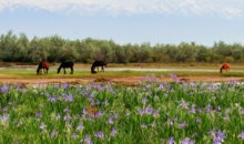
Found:
[[[96,76],[80,76],[80,78],[39,78],[39,79],[22,79],[22,78],[6,78],[4,75],[0,75],[0,82],[1,83],[11,83],[13,85],[17,85],[19,83],[22,83],[24,85],[28,84],[38,84],[41,82],[42,84],[58,84],[58,83],[70,83],[72,85],[77,84],[87,84],[90,83],[91,80],[94,81],[94,83],[108,83],[108,82],[114,82],[119,85],[124,86],[135,86],[139,84],[139,81],[143,76],[138,75],[101,75],[100,78]],[[243,78],[236,78],[236,76],[224,76],[224,75],[216,75],[216,74],[197,74],[197,75],[191,75],[191,74],[177,74],[177,78],[180,82],[187,81],[187,82],[230,82],[231,80],[237,80],[242,81]],[[165,82],[170,82],[169,76],[165,76],[162,79]]]

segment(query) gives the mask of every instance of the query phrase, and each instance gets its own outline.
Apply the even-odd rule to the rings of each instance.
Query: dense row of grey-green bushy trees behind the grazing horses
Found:
[[[10,30],[0,37],[0,61],[62,62],[72,60],[81,63],[92,63],[94,60],[112,63],[152,63],[152,62],[244,62],[244,47],[241,43],[226,44],[214,42],[213,47],[196,45],[195,42],[180,44],[151,45],[118,44],[113,40],[64,40],[59,35],[47,38],[34,37],[29,40],[26,33],[19,37]]]

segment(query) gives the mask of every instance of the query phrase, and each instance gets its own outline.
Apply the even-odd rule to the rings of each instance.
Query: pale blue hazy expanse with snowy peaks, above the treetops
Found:
[[[244,44],[244,0],[0,0],[0,34]]]

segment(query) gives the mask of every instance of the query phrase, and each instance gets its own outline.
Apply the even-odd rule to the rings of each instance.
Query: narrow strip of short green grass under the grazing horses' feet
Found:
[[[70,71],[67,71],[67,74],[63,72],[60,72],[60,74],[57,74],[57,71],[49,71],[48,74],[40,74],[37,75],[35,71],[10,71],[10,70],[1,70],[0,74],[11,76],[11,78],[83,78],[83,76],[102,76],[102,75],[148,75],[154,73],[155,75],[160,76],[161,74],[167,75],[171,72],[159,72],[159,71],[105,71],[105,72],[99,72],[98,74],[91,74],[90,71],[74,71],[73,74],[70,74]],[[216,74],[216,75],[226,75],[225,73],[220,72],[177,72],[176,74],[191,74],[191,75],[202,75],[202,74]],[[244,76],[243,72],[230,72],[228,75],[232,76]],[[227,75],[226,75],[227,76]]]

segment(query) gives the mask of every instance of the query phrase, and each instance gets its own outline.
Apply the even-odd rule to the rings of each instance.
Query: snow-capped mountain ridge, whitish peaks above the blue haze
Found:
[[[126,0],[125,0],[126,1]],[[185,0],[182,2],[169,0],[152,0],[152,2],[139,2],[132,4],[118,4],[118,3],[84,3],[84,2],[49,2],[49,3],[20,3],[1,0],[0,12],[4,10],[14,11],[34,11],[39,12],[48,10],[50,12],[58,12],[63,14],[82,14],[93,16],[102,13],[105,16],[119,14],[148,14],[148,13],[162,13],[165,16],[181,16],[181,17],[224,17],[226,19],[244,18],[244,12],[241,9],[223,6],[201,3],[196,0]]]

